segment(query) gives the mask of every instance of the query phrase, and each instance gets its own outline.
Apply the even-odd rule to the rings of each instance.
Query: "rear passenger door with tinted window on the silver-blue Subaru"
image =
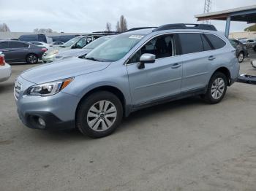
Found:
[[[211,58],[211,51],[204,52],[202,37],[199,33],[181,33],[178,36],[183,61],[181,92],[188,93],[206,87],[209,59],[214,59]]]

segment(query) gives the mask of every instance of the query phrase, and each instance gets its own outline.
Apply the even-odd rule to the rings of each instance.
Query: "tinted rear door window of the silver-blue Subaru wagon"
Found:
[[[200,34],[182,33],[178,35],[180,38],[181,50],[183,54],[203,52],[203,42]]]

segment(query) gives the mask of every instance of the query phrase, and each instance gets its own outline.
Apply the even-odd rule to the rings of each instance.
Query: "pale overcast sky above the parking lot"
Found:
[[[255,0],[212,0],[212,12],[256,4]],[[204,0],[0,0],[0,23],[13,32],[32,32],[34,28],[53,31],[112,30],[121,15],[128,28],[161,26],[167,23],[197,23],[194,15],[203,13]],[[212,21],[225,31],[224,21]],[[230,31],[244,31],[246,23],[232,22]]]

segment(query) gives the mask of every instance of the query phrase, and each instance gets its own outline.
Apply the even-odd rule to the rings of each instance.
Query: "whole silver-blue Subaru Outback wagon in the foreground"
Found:
[[[78,128],[99,138],[147,106],[192,95],[217,104],[238,73],[235,49],[214,26],[170,24],[119,34],[84,58],[24,71],[14,95],[29,128]]]

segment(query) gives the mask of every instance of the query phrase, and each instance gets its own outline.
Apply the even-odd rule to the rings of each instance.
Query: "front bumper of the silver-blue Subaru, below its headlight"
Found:
[[[75,128],[75,112],[79,98],[59,92],[50,96],[26,95],[31,82],[18,77],[20,94],[15,101],[20,120],[29,128],[62,130]],[[45,122],[41,125],[39,117]]]

